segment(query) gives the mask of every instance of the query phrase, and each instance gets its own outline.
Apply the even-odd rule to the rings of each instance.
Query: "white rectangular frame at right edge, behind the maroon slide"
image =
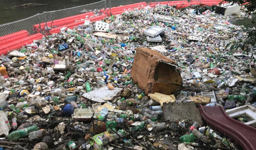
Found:
[[[236,118],[242,115],[246,115],[250,117],[252,121],[245,122],[244,124],[256,127],[256,108],[254,108],[252,105],[243,105],[240,107],[228,109],[226,110],[226,113],[231,118]]]

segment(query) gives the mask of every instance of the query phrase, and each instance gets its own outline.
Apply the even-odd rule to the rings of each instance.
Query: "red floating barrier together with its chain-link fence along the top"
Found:
[[[154,2],[155,5],[159,2],[172,1],[177,0],[102,0],[87,5],[43,12],[25,19],[3,24],[0,25],[0,55],[7,54],[13,49],[21,48],[25,44],[30,44],[34,39],[42,39],[44,35],[59,33],[63,27],[73,29],[75,26],[84,24],[84,19],[91,21],[100,20],[113,14],[111,10],[112,12],[117,12],[116,14],[121,14],[124,9],[123,7],[117,7],[120,5],[132,4],[132,6],[127,7],[141,9],[151,2]],[[200,2],[201,0],[182,0],[177,3],[190,3],[190,1]]]

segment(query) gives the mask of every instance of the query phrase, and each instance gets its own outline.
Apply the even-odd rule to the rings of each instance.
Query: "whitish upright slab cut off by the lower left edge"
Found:
[[[0,110],[0,135],[7,136],[11,130],[8,118],[3,110]]]

